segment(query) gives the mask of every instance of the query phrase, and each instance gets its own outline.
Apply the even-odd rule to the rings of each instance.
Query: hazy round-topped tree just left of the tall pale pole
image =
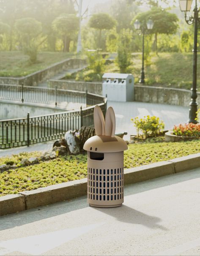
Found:
[[[79,29],[79,18],[75,14],[61,14],[52,22],[52,28],[63,38],[63,51],[68,52],[74,34]]]

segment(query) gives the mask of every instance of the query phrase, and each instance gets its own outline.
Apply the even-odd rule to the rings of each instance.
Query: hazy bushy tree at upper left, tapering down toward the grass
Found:
[[[25,54],[29,55],[30,61],[35,63],[37,60],[38,45],[36,39],[41,34],[41,22],[33,18],[22,18],[16,20],[16,31],[19,34],[20,42]]]

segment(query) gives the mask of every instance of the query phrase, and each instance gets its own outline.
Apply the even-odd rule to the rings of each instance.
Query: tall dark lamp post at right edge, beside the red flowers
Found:
[[[193,80],[192,80],[192,94],[191,101],[189,103],[189,123],[197,124],[197,27],[200,23],[199,9],[197,7],[197,0],[195,0],[194,16],[189,16],[187,19],[187,11],[190,11],[192,6],[192,0],[179,0],[181,11],[185,12],[185,20],[188,25],[194,24],[194,49],[193,49]]]

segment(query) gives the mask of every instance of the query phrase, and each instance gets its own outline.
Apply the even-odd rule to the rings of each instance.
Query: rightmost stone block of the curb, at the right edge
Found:
[[[175,173],[200,167],[200,153],[169,160],[174,164]]]

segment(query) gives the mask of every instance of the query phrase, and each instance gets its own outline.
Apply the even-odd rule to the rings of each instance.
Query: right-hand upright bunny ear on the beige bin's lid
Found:
[[[112,107],[109,107],[106,112],[105,132],[107,136],[115,136],[115,112]]]

